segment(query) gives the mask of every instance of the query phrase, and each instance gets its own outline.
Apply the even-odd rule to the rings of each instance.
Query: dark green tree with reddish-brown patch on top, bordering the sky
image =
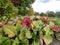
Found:
[[[20,3],[19,3],[20,1]],[[25,15],[28,13],[28,10],[31,8],[31,4],[35,0],[12,0],[12,3],[18,7],[19,9],[19,14]]]

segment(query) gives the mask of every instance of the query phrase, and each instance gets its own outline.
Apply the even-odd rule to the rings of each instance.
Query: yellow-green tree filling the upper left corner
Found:
[[[8,18],[18,14],[18,8],[16,8],[10,0],[0,0],[0,20]]]

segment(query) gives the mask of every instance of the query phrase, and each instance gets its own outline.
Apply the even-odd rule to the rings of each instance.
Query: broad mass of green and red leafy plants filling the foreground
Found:
[[[60,40],[59,27],[48,17],[40,20],[17,17],[15,20],[17,22],[11,19],[6,24],[0,23],[0,45],[49,45],[55,37]]]

